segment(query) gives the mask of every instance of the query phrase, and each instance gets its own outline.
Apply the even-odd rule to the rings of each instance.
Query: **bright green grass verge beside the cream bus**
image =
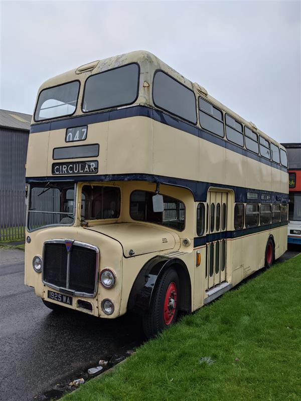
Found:
[[[301,256],[185,316],[71,400],[300,401]]]

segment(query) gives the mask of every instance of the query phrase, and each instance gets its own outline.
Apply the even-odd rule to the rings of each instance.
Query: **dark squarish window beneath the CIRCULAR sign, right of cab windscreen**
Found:
[[[85,220],[117,219],[120,214],[120,189],[114,186],[84,185],[81,218]]]

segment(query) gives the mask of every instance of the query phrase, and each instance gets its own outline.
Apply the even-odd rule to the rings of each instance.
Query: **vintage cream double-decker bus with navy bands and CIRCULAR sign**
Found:
[[[54,310],[168,328],[287,246],[285,148],[153,54],[39,89],[25,283]]]

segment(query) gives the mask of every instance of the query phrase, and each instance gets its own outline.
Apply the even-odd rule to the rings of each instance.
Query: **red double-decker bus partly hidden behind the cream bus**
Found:
[[[289,175],[288,244],[301,245],[301,143],[282,143],[286,148]]]

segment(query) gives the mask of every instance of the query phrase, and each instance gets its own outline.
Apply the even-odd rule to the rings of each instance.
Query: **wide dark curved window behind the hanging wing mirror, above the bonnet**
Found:
[[[163,195],[164,212],[154,212],[155,192],[135,190],[130,195],[130,217],[142,222],[157,223],[183,231],[185,228],[185,206],[181,200]]]

